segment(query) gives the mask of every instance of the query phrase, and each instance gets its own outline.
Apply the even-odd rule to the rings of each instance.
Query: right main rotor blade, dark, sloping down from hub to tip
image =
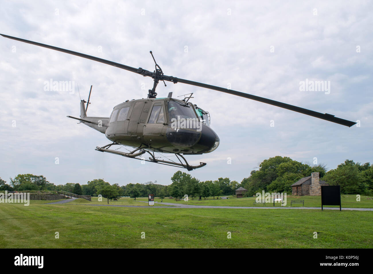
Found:
[[[340,124],[340,125],[345,125],[347,127],[352,127],[354,124],[356,124],[356,122],[344,120],[344,119],[335,117],[332,114],[327,114],[327,113],[323,114],[323,113],[320,113],[320,112],[312,111],[310,109],[300,108],[299,106],[293,106],[293,105],[289,105],[289,104],[286,104],[286,103],[274,101],[274,100],[271,100],[271,99],[251,95],[251,94],[248,94],[248,93],[239,92],[239,91],[236,91],[236,90],[225,89],[223,87],[211,86],[211,85],[207,85],[207,84],[204,84],[204,83],[198,83],[198,82],[185,80],[185,79],[180,79],[180,78],[176,78],[176,77],[172,77],[172,76],[164,76],[163,80],[171,81],[173,83],[185,83],[185,84],[192,85],[192,86],[204,87],[206,89],[213,89],[213,90],[229,93],[229,94],[232,94],[232,95],[236,95],[236,96],[248,98],[248,99],[251,99],[251,100],[267,103],[269,105],[279,106],[280,108],[289,109],[291,111],[296,111],[296,112],[299,112],[299,113],[302,113],[302,114],[305,114],[305,115],[310,115],[310,116],[320,118],[320,119],[323,119],[323,120],[326,120],[326,121],[330,121],[330,122],[333,122],[333,123],[337,123],[337,124]]]

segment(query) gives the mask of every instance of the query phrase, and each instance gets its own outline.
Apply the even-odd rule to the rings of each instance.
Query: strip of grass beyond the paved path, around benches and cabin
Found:
[[[252,207],[256,197],[247,198],[236,198],[228,196],[229,199],[219,200],[209,197],[209,200],[198,201],[198,198],[188,198],[188,201],[175,201],[175,199],[163,199],[163,203],[177,203],[177,204],[190,204],[195,206],[235,206],[235,207]],[[367,199],[372,198],[368,196],[360,196],[360,201],[356,201],[356,195],[341,195],[341,203],[343,207],[352,208],[373,208],[373,200]],[[133,200],[133,199],[132,199]],[[139,201],[147,201],[147,198],[136,198]],[[286,207],[290,207],[291,200],[304,200],[305,207],[320,207],[321,208],[321,196],[293,196],[288,195],[286,198]],[[160,202],[161,199],[156,198],[154,201]],[[158,205],[158,204],[157,204]],[[263,207],[262,204],[257,204],[257,207]],[[275,207],[280,207],[280,203],[275,203]],[[294,204],[294,207],[302,207],[302,204]],[[266,207],[273,207],[273,203],[266,203]],[[339,206],[326,206],[326,207],[339,207]]]

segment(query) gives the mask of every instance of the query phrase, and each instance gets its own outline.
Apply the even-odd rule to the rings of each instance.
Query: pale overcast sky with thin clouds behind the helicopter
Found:
[[[188,172],[201,181],[229,177],[241,182],[276,155],[310,163],[316,157],[327,169],[345,159],[373,162],[370,1],[117,2],[3,1],[0,32],[151,71],[152,50],[166,75],[231,85],[360,121],[360,127],[348,128],[217,91],[161,82],[158,97],[193,92],[191,102],[210,112],[219,148],[186,156],[193,164],[207,163]],[[85,100],[93,85],[87,115],[109,117],[118,103],[146,98],[152,79],[3,37],[0,57],[1,178],[9,182],[9,177],[32,173],[56,185],[95,178],[119,185],[171,183],[178,168],[95,151],[110,141],[66,117],[79,117],[76,84]],[[75,83],[75,92],[44,90],[50,79]],[[306,79],[330,81],[330,89],[300,90]]]

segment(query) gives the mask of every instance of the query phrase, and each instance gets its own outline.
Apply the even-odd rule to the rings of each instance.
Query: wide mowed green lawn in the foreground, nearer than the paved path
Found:
[[[0,204],[0,240],[3,248],[372,248],[372,216],[372,211],[136,208],[31,201],[30,206]]]

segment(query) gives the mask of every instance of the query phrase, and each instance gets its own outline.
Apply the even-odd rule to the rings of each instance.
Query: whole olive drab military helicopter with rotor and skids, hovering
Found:
[[[163,81],[165,86],[165,81],[167,81],[174,84],[185,83],[188,85],[225,92],[345,125],[347,127],[351,127],[352,125],[356,124],[356,122],[337,118],[331,114],[323,114],[259,96],[250,95],[231,89],[225,89],[223,87],[207,85],[173,76],[166,76],[163,74],[162,69],[157,64],[151,51],[150,54],[155,63],[155,70],[153,72],[144,70],[141,67],[129,67],[109,60],[104,60],[98,57],[65,50],[63,48],[57,48],[38,42],[28,41],[3,34],[1,34],[1,36],[87,58],[100,63],[108,64],[110,66],[132,71],[144,77],[148,76],[153,78],[153,89],[149,90],[147,99],[133,99],[131,101],[127,100],[120,103],[113,108],[110,117],[87,116],[92,86],[88,96],[88,101],[86,102],[85,100],[81,100],[80,102],[80,118],[68,116],[69,118],[79,120],[83,124],[105,134],[106,138],[108,138],[112,143],[103,147],[96,147],[95,150],[100,152],[113,153],[163,165],[177,166],[186,168],[188,171],[201,168],[206,165],[206,163],[202,162],[200,162],[200,165],[196,166],[189,165],[184,155],[210,153],[219,146],[220,139],[210,127],[209,112],[204,111],[204,109],[189,102],[189,99],[193,98],[192,93],[189,93],[189,96],[185,95],[184,99],[172,98],[172,92],[168,94],[167,98],[156,98],[156,87],[159,81]],[[115,145],[132,147],[134,150],[126,153],[116,149],[109,149],[111,146]],[[148,159],[141,157],[145,153],[150,154]],[[173,160],[162,160],[160,159],[162,157],[156,156],[155,153],[173,153],[178,158],[180,163]]]

